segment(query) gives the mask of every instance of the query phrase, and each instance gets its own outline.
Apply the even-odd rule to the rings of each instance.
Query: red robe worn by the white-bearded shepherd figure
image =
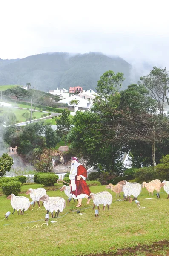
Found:
[[[72,186],[71,186],[70,193],[75,195],[76,197],[77,195],[81,195],[81,194],[90,195],[91,192],[89,187],[87,186],[86,181],[83,180],[82,177],[80,180],[77,180],[77,176],[79,175],[83,175],[85,178],[87,178],[87,171],[83,165],[80,165],[77,167],[77,175],[75,176],[76,190],[72,191]]]

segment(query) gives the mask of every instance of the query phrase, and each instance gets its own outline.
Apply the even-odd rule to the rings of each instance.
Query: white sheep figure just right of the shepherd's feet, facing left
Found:
[[[87,199],[93,200],[93,210],[95,209],[95,206],[99,209],[99,204],[103,204],[103,211],[105,210],[105,206],[107,204],[107,207],[109,209],[109,205],[112,204],[112,195],[108,191],[99,192],[97,194],[91,193]]]

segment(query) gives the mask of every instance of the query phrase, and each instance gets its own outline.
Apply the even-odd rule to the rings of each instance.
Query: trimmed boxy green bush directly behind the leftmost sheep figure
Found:
[[[2,184],[2,191],[3,194],[9,196],[11,194],[18,195],[21,191],[21,182],[20,181],[13,181],[7,182]]]

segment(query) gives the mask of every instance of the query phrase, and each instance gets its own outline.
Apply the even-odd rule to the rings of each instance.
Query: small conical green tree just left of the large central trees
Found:
[[[64,110],[63,113],[56,119],[57,130],[56,133],[60,138],[67,142],[67,135],[71,129],[71,121],[69,113]]]

